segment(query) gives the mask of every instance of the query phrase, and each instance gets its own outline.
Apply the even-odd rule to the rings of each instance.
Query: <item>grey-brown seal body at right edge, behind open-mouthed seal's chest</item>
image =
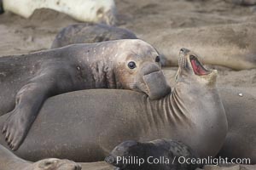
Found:
[[[256,164],[256,98],[239,88],[220,88],[219,94],[229,132],[218,155],[230,159],[250,158],[251,164]]]

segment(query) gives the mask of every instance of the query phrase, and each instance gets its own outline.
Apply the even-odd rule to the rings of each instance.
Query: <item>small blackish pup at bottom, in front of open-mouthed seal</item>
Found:
[[[178,160],[197,158],[195,153],[181,142],[157,139],[144,143],[125,141],[116,146],[105,161],[117,167],[116,170],[194,170],[200,166]]]

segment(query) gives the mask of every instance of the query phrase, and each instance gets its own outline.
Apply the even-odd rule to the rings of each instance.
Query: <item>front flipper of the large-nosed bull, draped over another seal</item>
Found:
[[[10,112],[9,117],[3,125],[3,134],[12,150],[17,150],[22,144],[32,126],[32,122],[38,116],[38,111],[44,100],[53,95],[55,79],[53,75],[38,75],[28,82],[15,98],[15,109]]]

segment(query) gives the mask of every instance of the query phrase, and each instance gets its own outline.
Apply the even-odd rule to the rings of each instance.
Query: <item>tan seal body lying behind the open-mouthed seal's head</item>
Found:
[[[230,24],[142,35],[160,51],[163,66],[177,65],[177,48],[186,47],[198,54],[207,65],[222,65],[234,70],[256,68],[256,24]]]

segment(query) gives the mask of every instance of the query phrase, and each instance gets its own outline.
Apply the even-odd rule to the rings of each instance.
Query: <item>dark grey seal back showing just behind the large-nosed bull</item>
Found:
[[[119,39],[137,39],[124,28],[104,24],[75,24],[63,28],[55,37],[51,48],[61,48],[73,43],[95,43]]]

